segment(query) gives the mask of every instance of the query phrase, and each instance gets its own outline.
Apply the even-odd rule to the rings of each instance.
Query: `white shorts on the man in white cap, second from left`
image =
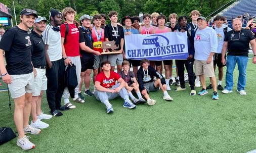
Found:
[[[42,90],[47,89],[47,77],[46,77],[46,69],[37,69],[35,68],[37,74],[35,76],[34,81],[34,90],[32,95],[38,96],[40,95]]]

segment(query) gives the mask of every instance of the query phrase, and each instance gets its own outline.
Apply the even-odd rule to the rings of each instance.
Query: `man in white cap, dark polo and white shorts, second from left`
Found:
[[[46,52],[45,43],[42,40],[42,32],[45,31],[47,22],[45,17],[38,16],[33,25],[34,29],[29,34],[32,43],[31,60],[33,69],[36,72],[34,91],[32,93],[32,121],[30,126],[39,129],[44,129],[49,126],[49,124],[42,122],[41,119],[50,119],[53,117],[52,115],[47,115],[41,112],[42,94],[44,93],[44,90],[47,89]]]

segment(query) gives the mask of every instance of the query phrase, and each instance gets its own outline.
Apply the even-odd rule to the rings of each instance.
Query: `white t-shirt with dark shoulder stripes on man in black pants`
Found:
[[[48,44],[48,56],[50,61],[58,61],[62,58],[61,35],[60,31],[54,31],[50,25],[42,32],[42,38],[45,44]]]

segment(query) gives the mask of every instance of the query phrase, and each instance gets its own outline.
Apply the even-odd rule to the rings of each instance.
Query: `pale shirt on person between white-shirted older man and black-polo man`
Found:
[[[218,28],[217,26],[215,27],[215,31],[217,33],[217,38],[218,38],[218,49],[217,49],[217,53],[221,54],[222,51],[222,47],[223,47],[223,43],[224,43],[224,38],[225,38],[225,34],[223,29],[228,27],[226,24],[222,24],[222,27]],[[228,31],[231,31],[232,29],[230,27],[228,27]]]

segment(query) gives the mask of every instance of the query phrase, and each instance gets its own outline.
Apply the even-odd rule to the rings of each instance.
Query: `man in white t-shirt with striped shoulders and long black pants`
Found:
[[[50,112],[53,116],[62,116],[59,110],[65,110],[61,106],[61,97],[64,91],[64,73],[65,65],[62,58],[60,25],[62,23],[62,14],[57,10],[50,11],[50,24],[42,32],[46,51],[46,76],[47,90],[46,97]]]

